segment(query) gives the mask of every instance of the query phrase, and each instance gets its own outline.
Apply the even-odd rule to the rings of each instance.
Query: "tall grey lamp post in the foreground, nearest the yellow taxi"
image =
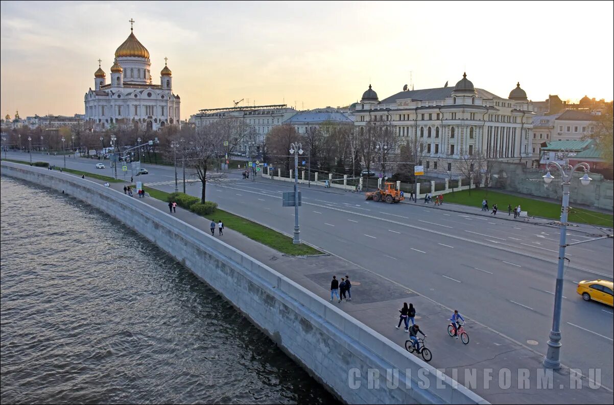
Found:
[[[569,187],[573,178],[573,172],[576,169],[583,169],[584,176],[580,178],[582,185],[588,185],[591,182],[591,178],[588,177],[590,166],[588,163],[577,163],[575,166],[569,164],[569,158],[564,156],[564,163],[558,164],[555,161],[551,161],[546,166],[548,172],[543,177],[543,181],[548,184],[554,180],[554,176],[550,174],[553,169],[559,169],[561,172],[561,181],[563,187],[563,201],[561,206],[561,236],[559,241],[559,266],[556,273],[556,287],[554,290],[554,314],[552,320],[552,330],[550,331],[550,339],[548,340],[548,353],[543,359],[543,365],[546,368],[561,368],[561,360],[559,359],[561,354],[561,304],[563,298],[563,269],[565,264],[565,239],[567,238],[567,212],[569,211]]]

